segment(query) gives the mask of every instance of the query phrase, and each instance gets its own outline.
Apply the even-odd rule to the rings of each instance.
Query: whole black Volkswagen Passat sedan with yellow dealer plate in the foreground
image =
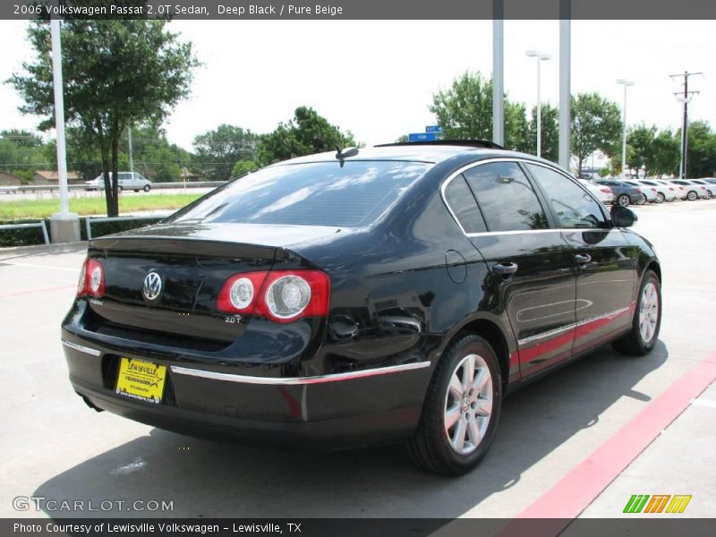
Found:
[[[195,435],[405,442],[465,473],[507,390],[655,345],[661,268],[565,171],[489,142],[295,158],[90,242],[62,325],[93,408]]]

